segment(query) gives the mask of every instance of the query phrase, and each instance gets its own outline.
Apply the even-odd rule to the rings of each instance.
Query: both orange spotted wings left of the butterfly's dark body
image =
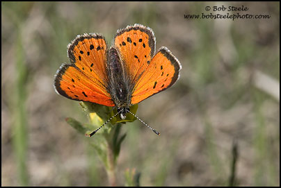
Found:
[[[58,69],[54,87],[68,99],[114,106],[106,90],[106,41],[102,35],[78,35],[68,46],[70,65]]]

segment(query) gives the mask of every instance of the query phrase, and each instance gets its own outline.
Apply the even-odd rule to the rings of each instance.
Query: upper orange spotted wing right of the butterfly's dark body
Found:
[[[125,62],[130,84],[136,83],[147,69],[155,53],[155,37],[150,28],[135,24],[117,31],[114,38],[115,48],[120,51]]]

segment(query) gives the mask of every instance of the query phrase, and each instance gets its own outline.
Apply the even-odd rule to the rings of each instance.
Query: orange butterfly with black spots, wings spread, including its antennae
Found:
[[[179,79],[179,60],[165,46],[155,53],[155,46],[154,32],[141,24],[118,30],[110,47],[101,34],[78,35],[67,46],[71,63],[58,69],[54,88],[68,99],[116,107],[125,119],[131,105]]]

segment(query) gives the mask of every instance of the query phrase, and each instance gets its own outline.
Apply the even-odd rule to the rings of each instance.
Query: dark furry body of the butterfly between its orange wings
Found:
[[[111,47],[107,61],[109,74],[109,93],[118,107],[129,105],[129,89],[125,78],[125,67],[122,66],[122,60],[118,51]]]

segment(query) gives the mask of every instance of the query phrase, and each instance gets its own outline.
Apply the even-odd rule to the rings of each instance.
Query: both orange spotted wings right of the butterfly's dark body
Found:
[[[167,89],[179,78],[181,65],[166,47],[154,55],[155,37],[150,28],[140,24],[127,26],[118,31],[114,44],[134,85],[131,104]]]

